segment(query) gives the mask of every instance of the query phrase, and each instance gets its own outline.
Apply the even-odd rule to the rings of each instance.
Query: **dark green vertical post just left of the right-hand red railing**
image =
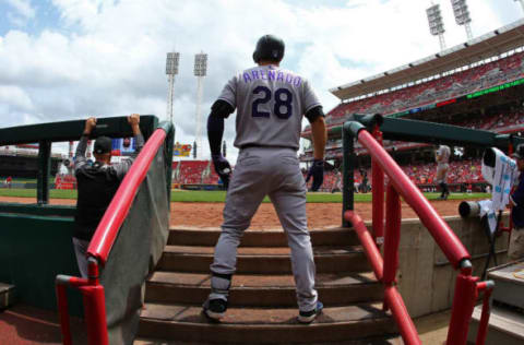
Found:
[[[354,188],[355,188],[355,136],[344,127],[342,128],[342,145],[343,145],[343,187],[342,187],[342,226],[352,226],[344,218],[346,211],[354,210]]]

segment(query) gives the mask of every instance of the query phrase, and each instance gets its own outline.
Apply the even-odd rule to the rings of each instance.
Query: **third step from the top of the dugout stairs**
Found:
[[[156,304],[202,304],[210,294],[209,273],[155,272],[148,279],[145,299]],[[341,306],[383,298],[383,287],[373,273],[320,273],[317,290],[325,306]],[[236,274],[229,305],[242,307],[297,306],[293,275]]]

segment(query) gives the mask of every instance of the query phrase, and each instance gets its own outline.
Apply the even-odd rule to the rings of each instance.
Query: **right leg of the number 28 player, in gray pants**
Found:
[[[297,299],[300,314],[309,314],[303,322],[315,317],[318,294],[314,289],[315,266],[311,238],[307,228],[306,185],[300,174],[296,155],[287,152],[272,159],[279,178],[275,178],[269,195],[278,218],[287,234],[291,249],[291,269],[297,285]],[[300,320],[300,319],[299,319]]]

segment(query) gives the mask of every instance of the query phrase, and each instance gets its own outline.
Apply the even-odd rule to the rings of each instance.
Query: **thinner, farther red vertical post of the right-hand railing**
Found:
[[[379,126],[374,126],[372,134],[382,146],[382,132]],[[384,171],[374,158],[371,158],[371,185],[373,238],[380,248],[384,241]]]

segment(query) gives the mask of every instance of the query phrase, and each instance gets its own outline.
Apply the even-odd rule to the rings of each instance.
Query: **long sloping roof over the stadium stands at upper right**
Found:
[[[341,99],[355,98],[469,66],[523,45],[524,19],[427,58],[331,88],[330,92]]]

